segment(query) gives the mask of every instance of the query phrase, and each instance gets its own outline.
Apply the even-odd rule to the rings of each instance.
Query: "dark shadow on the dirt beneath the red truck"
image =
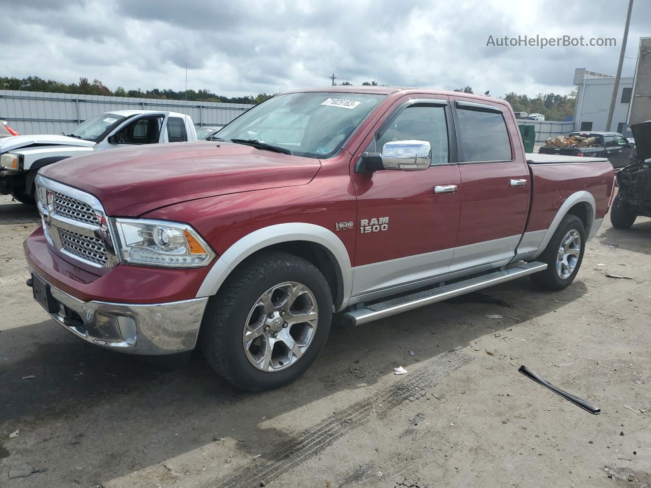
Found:
[[[9,443],[6,436],[2,442],[8,461],[11,446],[18,445],[21,461],[49,463],[49,471],[39,475],[49,486],[71,485],[73,479],[82,486],[106,482],[210,449],[215,439],[250,459],[295,442],[290,432],[297,434],[339,410],[329,400],[337,393],[374,388],[396,366],[417,371],[422,362],[436,361],[486,334],[508,336],[519,323],[571,306],[586,292],[585,284],[576,280],[562,292],[540,293],[523,278],[484,290],[509,303],[465,297],[357,328],[333,325],[324,350],[305,375],[262,394],[233,388],[201,359],[192,360],[184,371],[170,371],[80,342],[51,320],[16,327],[1,337],[0,351],[8,356],[0,357],[0,432],[20,429],[18,439],[27,437],[36,447]],[[25,347],[25,338],[35,340]],[[25,379],[31,375],[35,377]],[[437,388],[437,393],[445,392]],[[301,419],[307,423],[286,428],[285,414],[305,407],[311,411],[314,405],[321,410]],[[273,427],[276,418],[283,429]],[[76,470],[72,459],[82,456],[86,468]]]

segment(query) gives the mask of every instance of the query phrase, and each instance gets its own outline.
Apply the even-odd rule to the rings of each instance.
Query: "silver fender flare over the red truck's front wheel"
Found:
[[[215,295],[230,273],[254,252],[274,244],[307,241],[322,245],[337,261],[342,278],[342,307],[348,304],[353,286],[353,269],[344,243],[331,230],[316,224],[292,222],[260,228],[243,236],[227,249],[204,278],[197,298]]]

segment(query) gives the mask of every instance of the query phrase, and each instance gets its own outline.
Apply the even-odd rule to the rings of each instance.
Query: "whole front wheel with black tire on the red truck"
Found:
[[[265,296],[271,306],[264,305]],[[240,265],[208,300],[199,337],[202,352],[215,372],[238,388],[279,388],[305,373],[316,359],[330,330],[332,305],[326,278],[310,262],[286,252],[260,254]],[[301,322],[301,314],[311,321]],[[298,351],[290,347],[292,342]]]

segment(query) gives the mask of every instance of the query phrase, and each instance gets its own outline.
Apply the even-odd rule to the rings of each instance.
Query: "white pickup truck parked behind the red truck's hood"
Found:
[[[19,135],[0,140],[0,195],[35,204],[36,173],[66,157],[137,144],[197,141],[189,115],[150,110],[100,113],[62,135]]]

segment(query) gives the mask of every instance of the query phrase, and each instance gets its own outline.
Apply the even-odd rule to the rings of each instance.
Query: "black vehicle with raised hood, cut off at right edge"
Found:
[[[632,124],[637,154],[632,164],[617,172],[617,196],[611,209],[611,223],[628,229],[638,215],[651,217],[651,120]]]

